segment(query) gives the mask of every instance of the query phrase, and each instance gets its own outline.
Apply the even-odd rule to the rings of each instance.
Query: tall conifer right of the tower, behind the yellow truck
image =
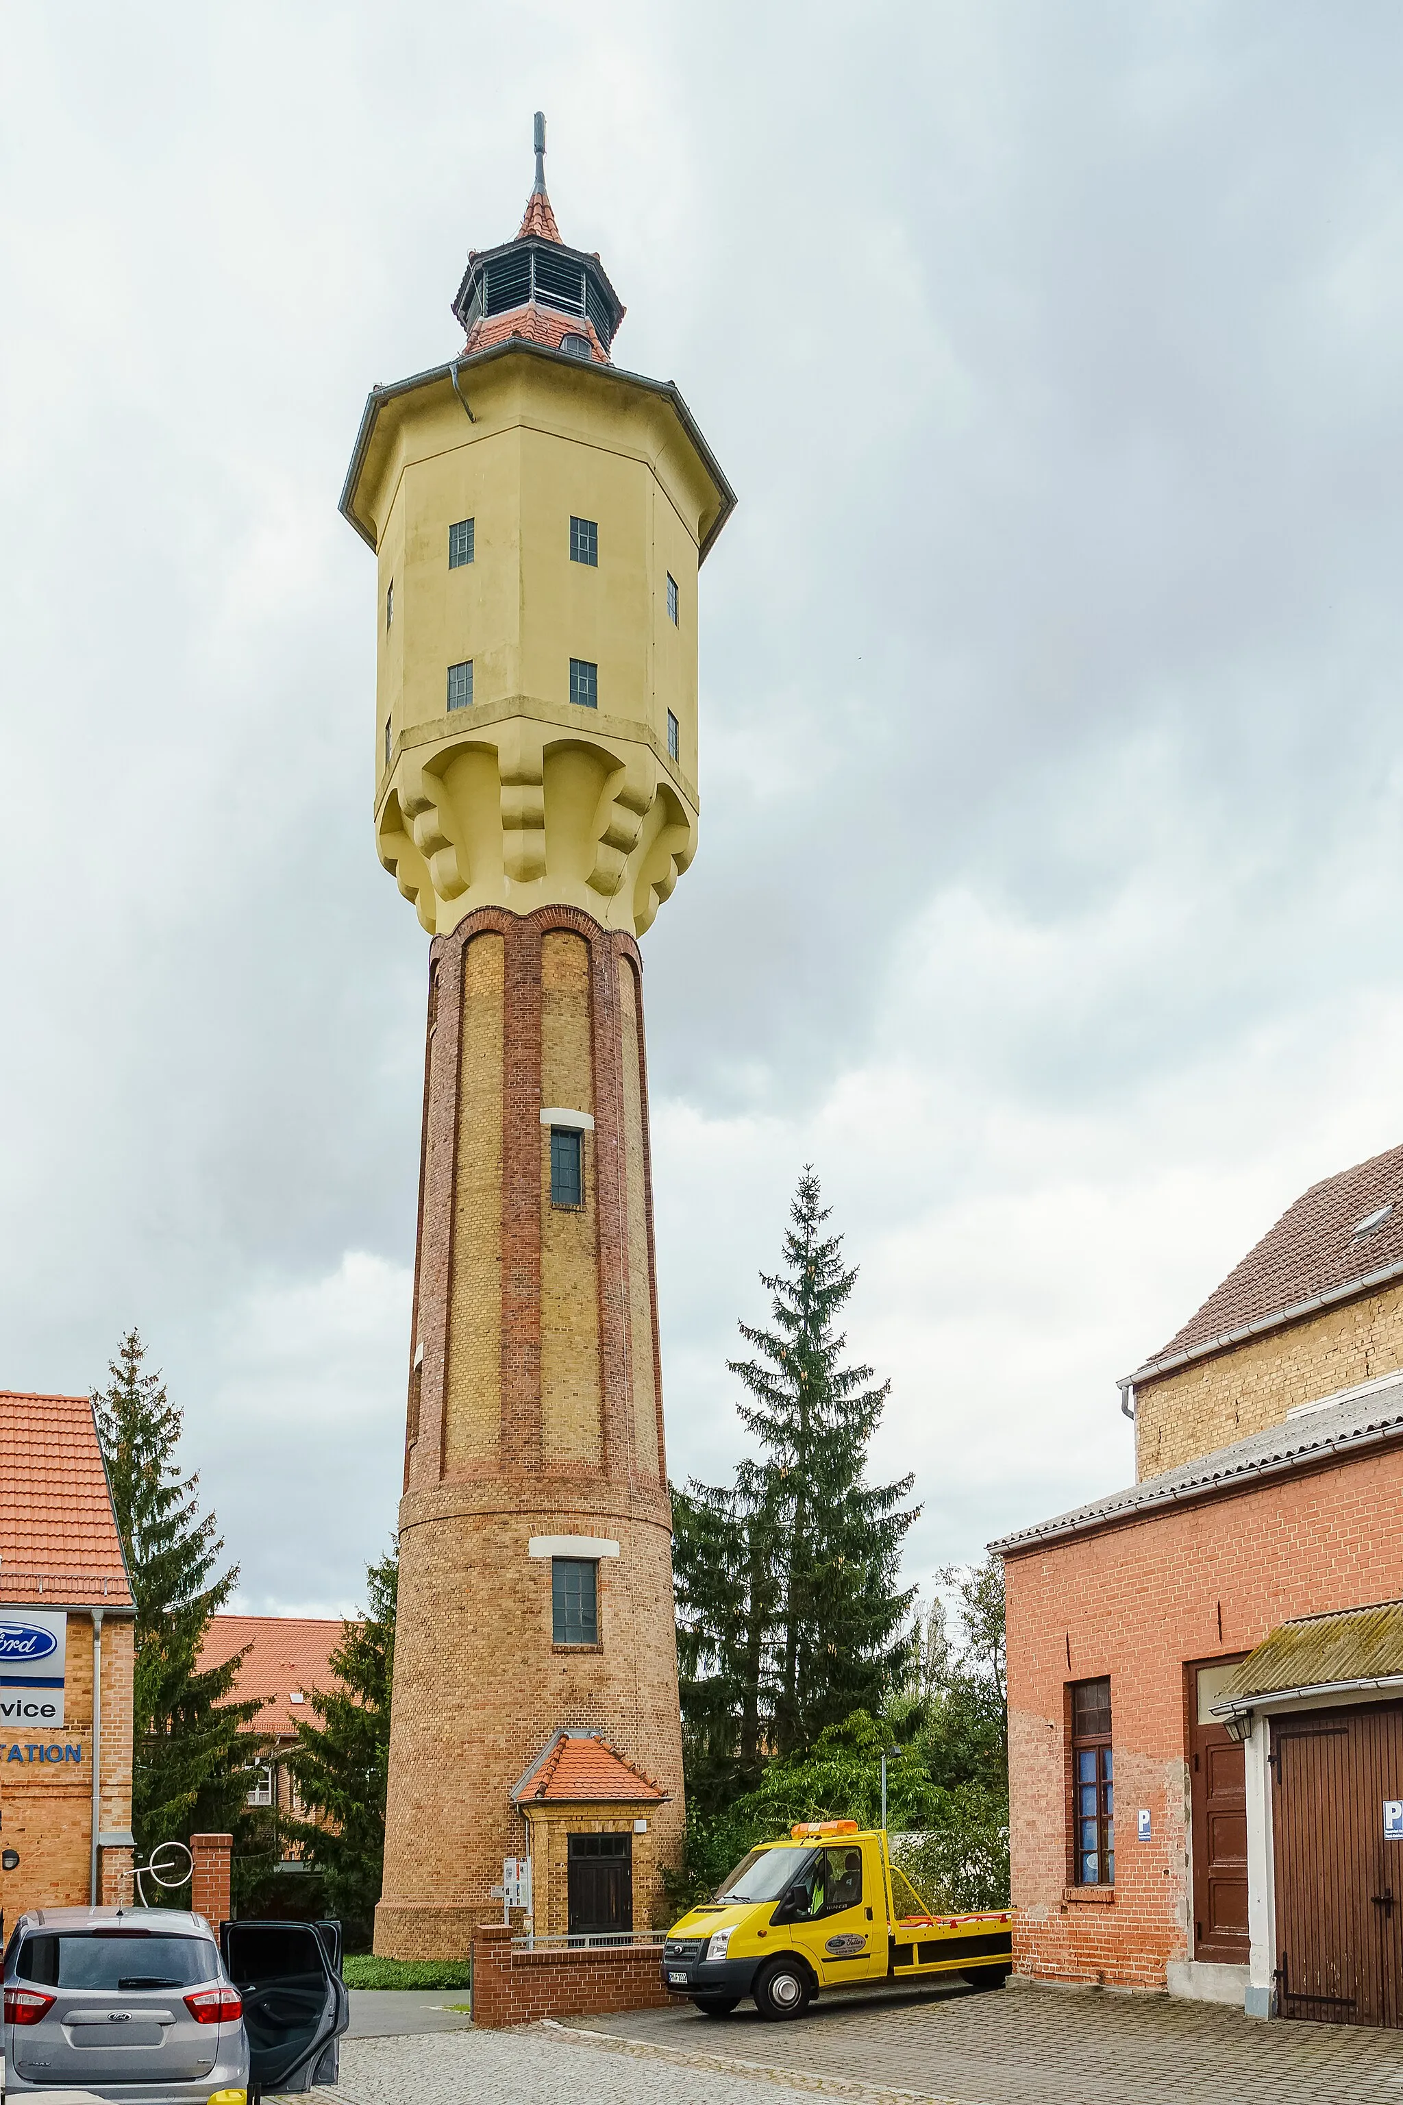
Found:
[[[835,1324],[858,1274],[841,1263],[841,1238],[822,1236],[812,1166],[789,1219],[785,1269],[761,1274],[772,1324],[740,1324],[755,1358],[730,1362],[751,1396],[738,1410],[759,1459],[740,1463],[732,1486],[690,1482],[679,1501],[684,1722],[713,1789],[724,1720],[732,1783],[745,1785],[761,1756],[812,1747],[852,1711],[877,1713],[909,1661],[915,1596],[896,1589],[896,1562],[917,1516],[902,1507],[913,1478],[867,1482],[890,1383],[871,1387],[871,1366],[841,1364]]]

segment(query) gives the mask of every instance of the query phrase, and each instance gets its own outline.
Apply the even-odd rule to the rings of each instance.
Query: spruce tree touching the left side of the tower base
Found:
[[[303,1806],[320,1821],[292,1821],[303,1859],[324,1876],[326,1911],[345,1924],[349,1949],[370,1949],[385,1867],[389,1690],[395,1669],[400,1551],[366,1566],[368,1606],[345,1623],[330,1655],[339,1686],[307,1690],[320,1724],[297,1720],[288,1768]]]

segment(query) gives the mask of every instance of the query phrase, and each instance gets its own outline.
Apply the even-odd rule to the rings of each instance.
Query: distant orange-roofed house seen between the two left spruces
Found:
[[[242,1652],[231,1697],[248,1703],[261,1699],[261,1709],[244,1732],[250,1743],[248,1804],[267,1806],[276,1817],[286,1812],[303,1819],[303,1804],[288,1768],[297,1745],[299,1718],[316,1722],[307,1699],[337,1680],[330,1655],[345,1636],[341,1617],[303,1615],[217,1615],[204,1633],[202,1667],[221,1667]],[[297,1850],[286,1848],[284,1865],[299,1865]],[[301,1867],[301,1865],[299,1865]]]

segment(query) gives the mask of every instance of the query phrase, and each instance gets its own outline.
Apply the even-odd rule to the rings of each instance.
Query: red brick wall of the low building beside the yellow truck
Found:
[[[1014,1964],[1163,1987],[1191,1958],[1184,1663],[1403,1598],[1403,1446],[1005,1558]],[[1113,1897],[1071,1882],[1066,1688],[1111,1676]],[[1136,1842],[1136,1812],[1151,1842]]]

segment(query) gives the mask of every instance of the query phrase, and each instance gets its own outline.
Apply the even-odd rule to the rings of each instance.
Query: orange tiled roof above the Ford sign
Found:
[[[86,1396],[0,1389],[0,1600],[133,1606]]]

